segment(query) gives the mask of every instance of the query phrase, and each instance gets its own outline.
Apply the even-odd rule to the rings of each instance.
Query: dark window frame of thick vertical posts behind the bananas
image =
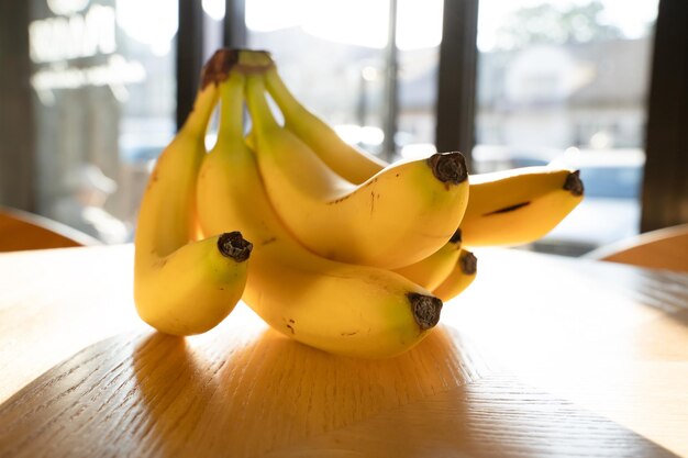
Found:
[[[2,3],[0,79],[2,138],[0,204],[36,210],[35,152],[30,76],[29,3]],[[467,159],[475,143],[477,18],[479,0],[444,0],[437,80],[437,150],[460,150]],[[203,11],[200,1],[179,0],[177,122],[191,109],[202,66]],[[245,0],[225,0],[224,45],[246,43]],[[688,222],[688,2],[659,0],[655,23],[645,131],[646,164],[641,231]],[[181,40],[179,38],[181,37]],[[11,49],[10,49],[11,47]],[[661,204],[658,204],[661,202]]]

